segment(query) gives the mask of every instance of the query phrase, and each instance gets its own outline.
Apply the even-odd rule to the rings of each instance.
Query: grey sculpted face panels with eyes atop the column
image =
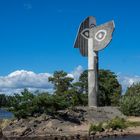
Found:
[[[114,31],[114,22],[110,21],[100,26],[94,26],[95,19],[89,17],[80,26],[75,48],[79,48],[83,56],[88,56],[88,39],[93,39],[93,50],[100,51],[104,49],[112,39]],[[85,24],[85,23],[88,24]],[[88,26],[84,26],[88,25]],[[84,28],[85,27],[85,28]]]

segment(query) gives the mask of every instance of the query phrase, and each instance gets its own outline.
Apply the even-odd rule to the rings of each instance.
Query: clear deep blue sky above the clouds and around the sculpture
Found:
[[[0,75],[17,70],[52,73],[87,68],[73,48],[80,22],[114,20],[110,45],[99,54],[100,68],[140,75],[139,0],[0,0]]]

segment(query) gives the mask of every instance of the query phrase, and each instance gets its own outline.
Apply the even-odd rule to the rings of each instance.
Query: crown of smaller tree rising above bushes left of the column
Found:
[[[73,78],[68,77],[64,71],[55,71],[49,81],[54,84],[55,94],[63,95],[71,87]]]

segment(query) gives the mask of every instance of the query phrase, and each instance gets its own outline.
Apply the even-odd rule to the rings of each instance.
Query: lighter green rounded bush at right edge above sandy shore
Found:
[[[123,96],[120,100],[120,110],[127,116],[140,116],[140,95]]]

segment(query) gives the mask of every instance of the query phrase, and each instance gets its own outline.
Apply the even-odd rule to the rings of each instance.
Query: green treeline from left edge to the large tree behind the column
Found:
[[[0,107],[6,107],[17,118],[40,115],[54,115],[57,110],[88,105],[88,71],[85,70],[78,82],[64,71],[55,71],[49,82],[54,84],[54,93],[31,93],[25,89],[13,96],[0,95]],[[115,73],[99,71],[99,106],[118,106],[121,99],[121,85]]]

